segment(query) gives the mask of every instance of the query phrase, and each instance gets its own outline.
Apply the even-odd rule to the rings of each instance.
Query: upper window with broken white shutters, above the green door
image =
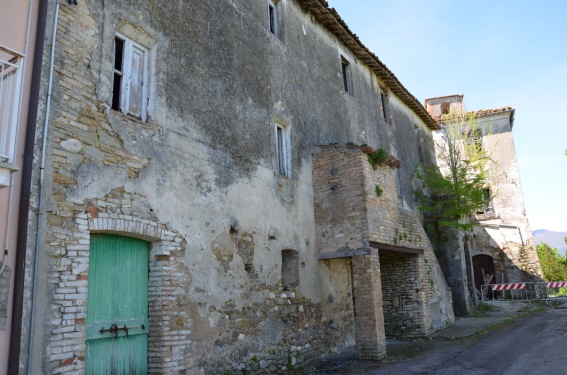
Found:
[[[149,75],[149,50],[116,33],[112,109],[146,121]]]

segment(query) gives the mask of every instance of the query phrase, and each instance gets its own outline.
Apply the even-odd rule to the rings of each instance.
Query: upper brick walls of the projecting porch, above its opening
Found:
[[[382,190],[377,196],[376,186]],[[360,147],[317,146],[313,154],[317,248],[360,249],[369,242],[431,247],[415,212],[398,207],[394,171],[373,170]]]

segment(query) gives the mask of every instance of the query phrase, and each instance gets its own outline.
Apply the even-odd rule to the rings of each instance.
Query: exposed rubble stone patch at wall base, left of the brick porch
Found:
[[[346,267],[351,277],[350,261],[325,262],[332,263],[329,266],[337,271]],[[320,304],[314,304],[299,289],[258,287],[261,289],[257,293],[265,296],[261,302],[239,309],[234,301],[228,301],[218,311],[215,355],[199,363],[207,373],[301,373],[306,360],[353,345],[350,293],[330,319]],[[350,282],[347,288],[352,290]]]

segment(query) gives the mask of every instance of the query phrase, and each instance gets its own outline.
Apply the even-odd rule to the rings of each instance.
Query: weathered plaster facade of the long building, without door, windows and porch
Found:
[[[278,6],[282,38],[262,0],[61,4],[32,373],[84,371],[94,231],[152,242],[152,372],[286,372],[288,358],[298,368],[354,345],[350,261],[315,256],[311,145],[387,147],[395,131],[373,73],[293,1]],[[128,24],[155,43],[145,123],[109,109],[114,33]],[[411,139],[418,158],[412,116],[395,116],[411,130],[398,148]],[[277,172],[275,121],[291,126],[291,178]],[[298,254],[291,290],[282,250]]]

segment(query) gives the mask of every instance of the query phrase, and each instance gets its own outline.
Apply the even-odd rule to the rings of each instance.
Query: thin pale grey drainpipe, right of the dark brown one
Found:
[[[28,360],[26,367],[26,374],[30,374],[33,340],[34,340],[34,320],[35,320],[35,291],[37,285],[37,263],[39,258],[39,241],[41,238],[41,220],[43,218],[43,177],[45,174],[45,153],[47,150],[47,136],[49,134],[49,111],[51,109],[51,91],[53,88],[53,62],[55,60],[55,42],[57,39],[57,21],[59,19],[59,0],[55,2],[55,16],[53,18],[53,36],[51,39],[51,58],[49,60],[49,83],[47,86],[47,101],[45,106],[45,121],[43,124],[43,139],[41,144],[41,164],[39,168],[39,188],[38,188],[38,202],[37,202],[37,215],[36,215],[36,230],[35,230],[35,244],[34,244],[34,258],[32,269],[32,293],[30,304],[30,322],[29,322],[29,335],[28,335]]]

